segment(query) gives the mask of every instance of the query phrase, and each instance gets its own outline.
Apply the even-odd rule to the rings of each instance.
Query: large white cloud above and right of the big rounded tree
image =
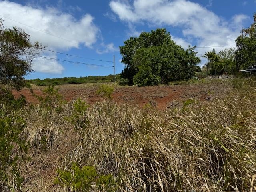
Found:
[[[181,28],[181,36],[174,37],[177,44],[186,46],[186,39],[192,38],[199,47],[216,46],[216,52],[223,49],[219,46],[235,44],[242,23],[248,18],[240,14],[231,20],[224,20],[206,7],[188,0],[134,0],[132,4],[112,0],[109,6],[120,20],[128,24],[144,22],[149,26]],[[198,54],[211,50],[197,49]]]

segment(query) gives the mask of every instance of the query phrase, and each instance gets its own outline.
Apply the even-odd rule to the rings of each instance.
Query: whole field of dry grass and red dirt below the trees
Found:
[[[14,128],[17,117],[24,120],[19,136],[30,145],[19,160],[22,184],[7,167],[0,189],[256,191],[255,78],[108,84],[110,99],[96,94],[99,86],[58,86],[64,99],[33,87],[42,100],[2,105],[1,118],[14,117]],[[23,154],[15,145],[11,151],[12,158]]]

